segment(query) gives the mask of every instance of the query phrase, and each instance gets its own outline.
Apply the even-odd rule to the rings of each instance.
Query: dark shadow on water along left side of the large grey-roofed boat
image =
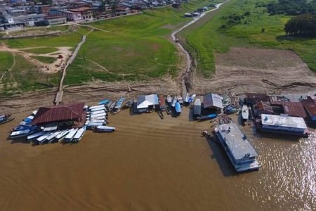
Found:
[[[213,152],[213,155],[211,155],[211,159],[216,160],[224,177],[232,177],[237,175],[234,167],[230,162],[230,159],[226,155],[226,152],[224,151],[222,146],[220,146],[220,143],[216,139],[215,135],[213,134],[213,136],[211,136],[211,139],[206,137],[205,139]]]

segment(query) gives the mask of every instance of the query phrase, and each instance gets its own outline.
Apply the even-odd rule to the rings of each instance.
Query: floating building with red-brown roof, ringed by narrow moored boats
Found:
[[[85,121],[84,103],[76,103],[65,106],[41,107],[31,123],[38,126],[55,124],[60,127],[82,127]]]

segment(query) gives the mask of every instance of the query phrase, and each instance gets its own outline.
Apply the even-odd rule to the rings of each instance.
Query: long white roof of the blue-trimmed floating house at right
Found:
[[[305,121],[302,117],[289,117],[284,115],[267,115],[261,114],[261,123],[263,125],[277,126],[277,127],[294,127],[307,129]]]

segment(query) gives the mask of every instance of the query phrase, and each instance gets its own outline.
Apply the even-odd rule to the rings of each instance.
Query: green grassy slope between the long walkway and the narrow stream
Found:
[[[208,4],[211,2],[194,0],[178,9],[159,8],[140,15],[91,23],[108,32],[94,31],[88,35],[79,58],[67,70],[65,82],[77,84],[93,79],[114,81],[162,77],[166,73],[176,75],[179,58],[166,36],[190,20],[181,17],[185,12]],[[89,60],[102,65],[108,72]]]

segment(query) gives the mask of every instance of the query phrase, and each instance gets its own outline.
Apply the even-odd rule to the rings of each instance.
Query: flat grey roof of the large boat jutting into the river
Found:
[[[247,154],[249,154],[249,157],[258,156],[258,153],[235,123],[219,124],[218,130],[235,160],[240,160]]]

